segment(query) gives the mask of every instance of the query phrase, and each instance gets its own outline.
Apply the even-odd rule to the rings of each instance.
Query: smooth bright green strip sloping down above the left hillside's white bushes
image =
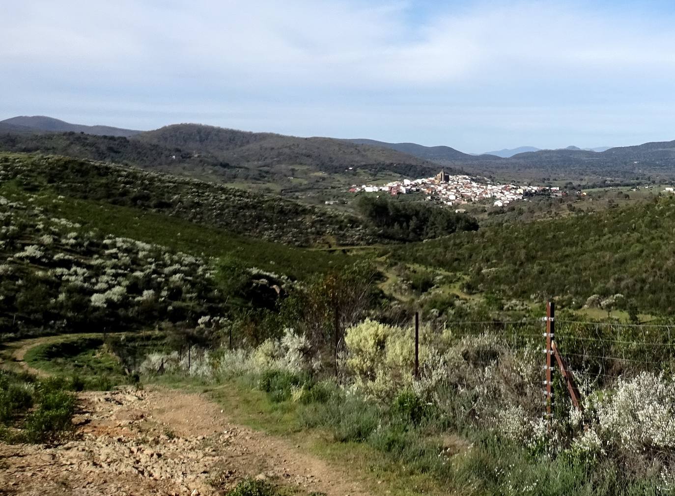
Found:
[[[80,223],[86,229],[159,244],[196,256],[234,258],[246,266],[293,277],[325,272],[356,261],[355,255],[340,251],[293,248],[128,206],[70,197],[59,199],[49,190],[36,194],[35,203],[50,215]],[[26,198],[26,192],[14,182],[0,184],[0,195],[14,200]]]

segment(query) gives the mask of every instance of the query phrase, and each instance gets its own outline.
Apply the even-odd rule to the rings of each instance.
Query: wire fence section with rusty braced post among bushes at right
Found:
[[[549,306],[551,312],[539,319],[457,321],[448,323],[448,327],[458,335],[496,335],[512,350],[543,352],[541,385],[548,406],[553,402],[556,381],[558,392],[567,389],[574,403],[579,399],[577,387],[590,391],[643,372],[675,370],[675,325],[556,320],[553,304],[548,302],[547,309]],[[488,361],[489,357],[486,365]],[[535,387],[541,389],[541,385]],[[551,408],[547,410],[550,415]]]

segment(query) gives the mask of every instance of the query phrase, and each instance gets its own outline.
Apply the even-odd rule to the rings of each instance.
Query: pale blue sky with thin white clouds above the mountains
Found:
[[[0,4],[0,119],[467,153],[675,140],[672,1]]]

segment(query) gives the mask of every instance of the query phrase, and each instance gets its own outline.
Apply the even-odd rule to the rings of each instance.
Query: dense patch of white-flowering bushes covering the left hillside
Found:
[[[77,223],[47,217],[41,209],[18,202],[0,204],[0,218],[5,224],[0,226],[2,296],[14,294],[9,300],[14,305],[22,292],[34,290],[35,283],[46,295],[35,302],[41,312],[26,315],[9,308],[8,314],[18,314],[11,321],[13,327],[44,329],[44,312],[55,314],[55,320],[70,329],[99,325],[106,314],[113,316],[111,312],[121,325],[138,325],[143,319],[151,322],[142,325],[155,325],[158,314],[171,322],[186,318],[185,312],[174,312],[182,308],[176,302],[190,304],[194,312],[222,304],[210,260],[79,231]],[[171,273],[171,281],[164,279],[165,271]],[[34,279],[27,281],[25,275]],[[85,302],[90,312],[82,310]]]

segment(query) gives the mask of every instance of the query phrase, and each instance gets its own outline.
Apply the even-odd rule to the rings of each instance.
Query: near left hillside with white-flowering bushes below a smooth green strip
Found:
[[[76,169],[82,182],[69,183],[59,167],[70,159],[0,157],[0,335],[194,328],[201,316],[232,314],[233,304],[257,312],[292,281],[360,259],[241,236],[142,202],[113,204],[97,196],[102,182],[113,171],[134,182],[138,171],[78,164],[99,184],[84,169]]]

